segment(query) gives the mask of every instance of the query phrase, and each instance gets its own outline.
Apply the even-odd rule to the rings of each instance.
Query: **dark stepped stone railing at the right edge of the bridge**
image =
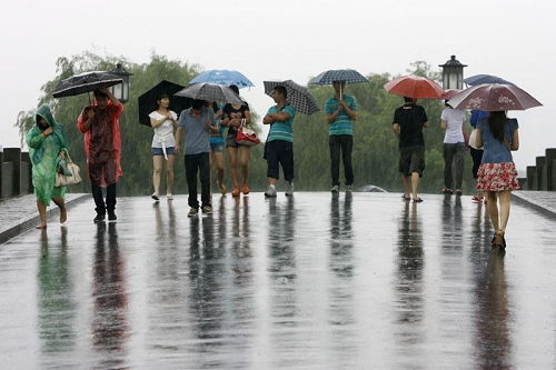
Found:
[[[522,189],[556,191],[556,148],[546,149],[535,164],[527,166],[527,178],[519,179]]]

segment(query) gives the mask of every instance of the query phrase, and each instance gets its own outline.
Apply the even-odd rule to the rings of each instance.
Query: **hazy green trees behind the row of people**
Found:
[[[152,130],[139,124],[138,97],[156,86],[161,80],[187,86],[189,81],[202,70],[197,64],[188,64],[180,60],[168,60],[166,57],[151,54],[148,63],[137,64],[121,57],[100,57],[92,52],[83,52],[70,59],[59,58],[57,76],[41,87],[42,96],[39,106],[48,103],[52,108],[54,119],[64,124],[70,141],[70,154],[77,162],[82,174],[86,173],[86,158],[83,134],[77,129],[77,117],[82,108],[90,103],[88,94],[53,99],[52,91],[60,80],[92,70],[111,70],[117,62],[122,62],[126,69],[133,73],[130,81],[129,102],[125,104],[125,112],[120,118],[121,129],[121,166],[123,177],[118,183],[119,196],[148,196],[152,192],[152,156],[150,144]],[[408,74],[440,80],[440,73],[430,70],[430,67],[418,61],[411,63]],[[398,150],[397,139],[391,129],[394,111],[403,104],[403,98],[388,94],[383,86],[393,79],[388,73],[370,74],[369,83],[348,84],[346,93],[357,99],[358,119],[354,123],[354,153],[355,188],[365,184],[375,184],[388,191],[403,191],[400,173],[397,171]],[[294,127],[294,152],[296,166],[296,190],[328,191],[330,183],[330,158],[328,149],[328,123],[326,123],[324,104],[334,94],[331,86],[308,86],[315,96],[321,111],[312,116],[297,114]],[[92,93],[91,93],[92,96]],[[426,169],[419,184],[419,192],[439,193],[444,187],[444,159],[441,147],[444,130],[440,129],[440,113],[444,102],[437,100],[420,100],[424,106],[430,127],[424,130],[426,146]],[[33,124],[36,108],[22,111],[18,116],[16,126],[19,128],[21,141]],[[265,112],[261,112],[265,114]],[[179,114],[179,112],[178,112]],[[254,129],[260,132],[260,116],[251,109]],[[470,131],[469,124],[466,124]],[[260,136],[259,136],[260,137]],[[261,137],[264,141],[266,137]],[[252,191],[262,191],[267,187],[266,161],[262,159],[264,146],[251,148],[249,161],[249,187]],[[226,156],[227,158],[227,156]],[[227,159],[227,166],[229,162]],[[464,176],[464,192],[471,193],[475,182],[470,174],[470,156],[466,156]],[[342,166],[340,166],[341,168]],[[86,177],[86,176],[85,176]],[[340,181],[342,181],[342,171]],[[165,188],[166,177],[162,176],[161,189]],[[226,183],[231,188],[229,171]],[[281,186],[281,184],[280,184]],[[214,186],[214,189],[216,187]],[[89,192],[89,181],[75,186],[70,191]],[[173,193],[187,192],[183,170],[183,157],[180,154],[175,163]]]

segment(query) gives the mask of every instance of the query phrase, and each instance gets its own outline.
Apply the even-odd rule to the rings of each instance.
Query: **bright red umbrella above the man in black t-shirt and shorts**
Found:
[[[438,83],[424,77],[404,76],[384,86],[388,93],[408,98],[440,99],[444,90]]]

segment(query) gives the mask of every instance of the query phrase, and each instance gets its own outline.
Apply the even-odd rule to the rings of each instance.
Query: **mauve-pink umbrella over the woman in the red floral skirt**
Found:
[[[450,99],[450,106],[494,112],[526,110],[543,104],[514,84],[485,83],[461,91]]]

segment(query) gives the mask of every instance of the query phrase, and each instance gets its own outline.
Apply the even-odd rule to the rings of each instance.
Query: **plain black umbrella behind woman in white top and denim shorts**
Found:
[[[183,109],[191,107],[190,98],[175,96],[181,89],[183,89],[181,84],[162,80],[159,84],[140,96],[138,99],[139,123],[150,127],[149,114],[158,109],[157,99],[162,93],[166,93],[170,98],[170,107],[168,109],[175,111],[178,116]]]

